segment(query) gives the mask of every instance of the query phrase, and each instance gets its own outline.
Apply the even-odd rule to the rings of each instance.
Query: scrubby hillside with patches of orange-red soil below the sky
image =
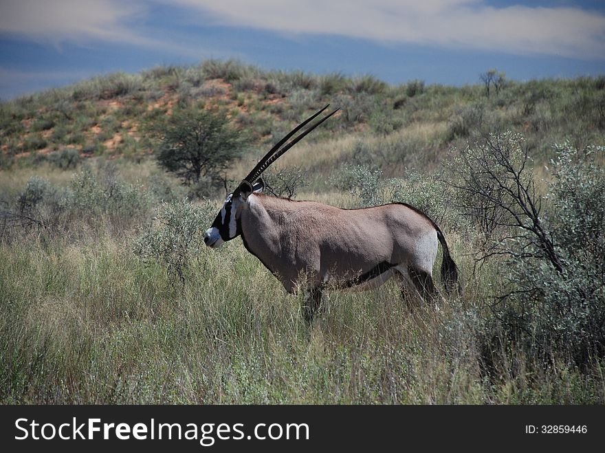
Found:
[[[514,82],[491,70],[481,74],[487,85],[479,76],[459,88],[421,80],[393,86],[372,76],[261,71],[231,60],[111,74],[1,102],[0,168],[53,163],[65,150],[136,162],[157,150],[157,131],[180,107],[223,109],[250,132],[250,144],[263,147],[331,103],[342,109],[339,120],[309,137],[331,138],[338,148],[322,164],[371,161],[389,177],[434,168],[452,144],[487,133],[523,133],[530,155],[546,159],[555,142],[604,144],[605,76]]]

